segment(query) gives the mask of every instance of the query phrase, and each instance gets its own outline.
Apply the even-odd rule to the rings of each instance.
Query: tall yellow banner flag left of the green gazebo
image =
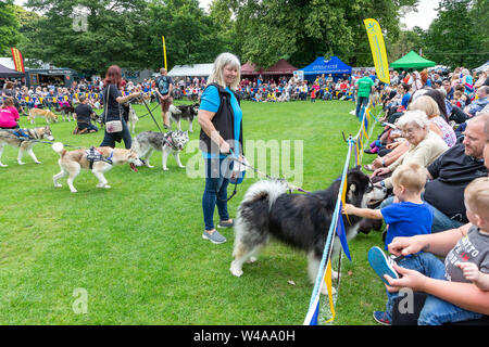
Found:
[[[372,56],[374,57],[377,77],[385,83],[390,83],[389,63],[387,61],[386,44],[384,43],[383,31],[377,21],[373,18],[364,20],[365,28],[371,43]]]

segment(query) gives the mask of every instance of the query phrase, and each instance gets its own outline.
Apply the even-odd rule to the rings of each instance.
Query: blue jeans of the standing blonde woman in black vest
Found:
[[[228,158],[204,158],[205,189],[202,196],[202,210],[205,230],[214,229],[214,210],[217,206],[220,220],[228,220],[227,185],[233,170],[233,160]]]

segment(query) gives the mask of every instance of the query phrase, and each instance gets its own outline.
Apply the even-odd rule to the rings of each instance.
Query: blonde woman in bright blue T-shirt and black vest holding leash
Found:
[[[202,93],[198,120],[201,126],[200,149],[205,162],[205,189],[202,209],[205,229],[202,239],[226,242],[214,228],[217,205],[218,227],[234,227],[227,211],[227,185],[234,160],[229,153],[242,154],[242,111],[236,94],[241,64],[231,53],[220,54]]]

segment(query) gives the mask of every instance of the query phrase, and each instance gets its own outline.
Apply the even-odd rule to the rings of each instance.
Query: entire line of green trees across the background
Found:
[[[0,4],[0,51],[17,44],[25,57],[86,73],[111,64],[156,69],[164,36],[168,68],[210,63],[224,51],[264,68],[280,59],[305,66],[321,55],[373,66],[363,24],[373,17],[389,61],[419,49],[447,64],[484,60],[487,0],[442,0],[428,30],[405,30],[400,16],[417,1],[213,0],[204,11],[198,0],[27,0],[26,11],[9,0]]]

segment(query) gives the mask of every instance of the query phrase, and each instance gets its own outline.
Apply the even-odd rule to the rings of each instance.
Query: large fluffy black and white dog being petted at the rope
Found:
[[[346,201],[356,207],[366,207],[386,196],[385,189],[374,187],[368,177],[359,168],[347,175]],[[262,180],[252,184],[238,207],[235,224],[234,260],[230,272],[240,277],[244,262],[256,261],[259,250],[273,239],[308,253],[309,275],[315,281],[329,224],[338,198],[340,181],[328,189],[310,194],[288,194],[283,181]],[[343,216],[347,239],[358,233],[362,218]],[[334,242],[333,254],[340,247]],[[325,286],[323,286],[325,290]],[[324,292],[324,291],[323,291]]]

